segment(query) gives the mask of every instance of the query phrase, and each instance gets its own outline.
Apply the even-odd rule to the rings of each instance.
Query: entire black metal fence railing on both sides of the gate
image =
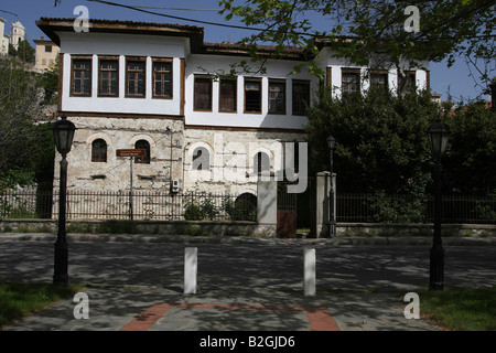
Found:
[[[245,194],[246,195],[246,194]],[[129,192],[68,191],[67,220],[130,220]],[[337,223],[432,223],[433,197],[388,194],[336,195]],[[443,223],[496,224],[496,199],[444,195]],[[1,191],[0,218],[57,218],[58,192]],[[132,218],[256,221],[256,197],[231,194],[134,191]]]

